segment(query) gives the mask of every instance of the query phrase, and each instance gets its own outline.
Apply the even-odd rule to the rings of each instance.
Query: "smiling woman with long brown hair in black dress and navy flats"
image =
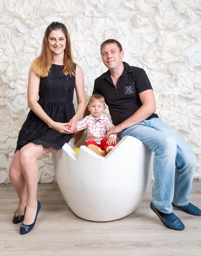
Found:
[[[74,87],[76,113],[72,103]],[[23,221],[21,235],[33,229],[40,210],[36,160],[69,142],[86,106],[83,72],[72,61],[69,33],[63,23],[52,22],[46,29],[41,54],[29,72],[28,106],[31,111],[20,130],[9,171],[20,199],[13,223]]]

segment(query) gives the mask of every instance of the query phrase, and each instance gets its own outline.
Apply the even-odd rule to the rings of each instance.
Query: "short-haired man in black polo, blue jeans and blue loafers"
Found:
[[[184,224],[172,212],[172,206],[201,215],[201,210],[188,201],[197,165],[195,154],[155,113],[150,81],[143,69],[122,61],[121,44],[108,39],[101,44],[100,53],[108,71],[95,79],[93,94],[102,94],[109,107],[115,127],[107,135],[118,133],[120,139],[133,136],[155,152],[150,207],[166,227],[183,230]],[[86,109],[84,116],[88,114]],[[82,134],[75,135],[75,143]]]

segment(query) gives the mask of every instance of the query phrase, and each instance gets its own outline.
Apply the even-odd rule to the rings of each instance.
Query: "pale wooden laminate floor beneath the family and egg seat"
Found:
[[[11,185],[0,186],[0,256],[201,256],[201,216],[174,209],[185,229],[164,227],[149,208],[152,183],[135,212],[101,223],[75,216],[57,183],[39,184],[41,210],[24,236],[20,224],[12,224],[17,194]],[[193,181],[190,202],[201,207],[201,181]]]

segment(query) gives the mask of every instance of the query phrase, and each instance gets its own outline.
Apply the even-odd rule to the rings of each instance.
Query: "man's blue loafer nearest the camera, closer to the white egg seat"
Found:
[[[155,214],[158,216],[158,218],[160,218],[160,220],[166,227],[173,230],[184,230],[184,224],[173,212],[168,214],[164,213],[164,215],[161,216],[158,209],[156,209],[152,202],[150,204],[150,208],[153,212],[155,212]]]

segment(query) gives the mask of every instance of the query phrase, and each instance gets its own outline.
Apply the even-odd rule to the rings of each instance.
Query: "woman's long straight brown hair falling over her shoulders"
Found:
[[[53,30],[61,30],[66,36],[66,48],[64,49],[62,73],[67,76],[75,76],[75,63],[72,60],[71,41],[66,26],[60,22],[52,22],[47,28],[43,38],[42,51],[40,55],[32,62],[32,69],[37,76],[46,77],[52,66],[53,54],[48,44],[48,37]]]

